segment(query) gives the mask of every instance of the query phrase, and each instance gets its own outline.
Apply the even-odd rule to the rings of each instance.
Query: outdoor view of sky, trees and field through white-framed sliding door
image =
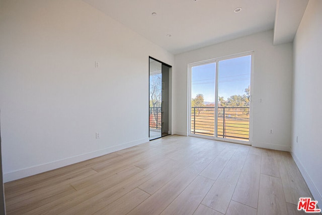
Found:
[[[248,55],[191,67],[190,134],[249,140],[251,64]]]

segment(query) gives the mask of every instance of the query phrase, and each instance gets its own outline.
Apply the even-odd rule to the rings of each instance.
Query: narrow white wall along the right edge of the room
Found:
[[[322,208],[321,11],[322,1],[309,1],[294,40],[291,146],[293,158],[319,208]]]

